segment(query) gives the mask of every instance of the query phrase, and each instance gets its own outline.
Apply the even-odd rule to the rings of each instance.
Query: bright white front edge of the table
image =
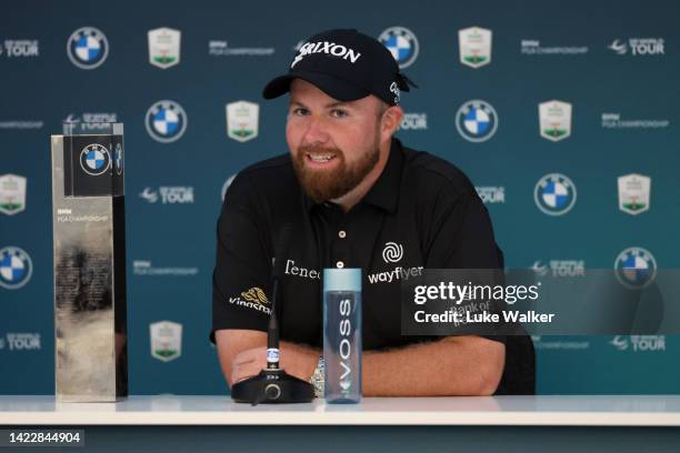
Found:
[[[2,412],[0,425],[680,426],[656,412]]]

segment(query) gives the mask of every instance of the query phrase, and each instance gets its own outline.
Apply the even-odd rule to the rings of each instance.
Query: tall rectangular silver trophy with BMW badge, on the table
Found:
[[[128,395],[123,125],[52,135],[56,386],[60,402]]]

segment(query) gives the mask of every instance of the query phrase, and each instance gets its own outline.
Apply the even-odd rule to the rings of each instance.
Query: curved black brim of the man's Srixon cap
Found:
[[[290,83],[294,79],[308,81],[338,101],[356,101],[357,99],[366,98],[370,94],[368,90],[337,77],[319,72],[300,71],[277,77],[271,82],[267,83],[267,87],[264,87],[264,90],[262,90],[262,97],[264,99],[274,99],[286,94],[288,91],[290,91]]]

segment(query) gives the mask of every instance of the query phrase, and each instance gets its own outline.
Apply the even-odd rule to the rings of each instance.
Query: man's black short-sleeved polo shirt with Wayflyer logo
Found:
[[[276,157],[241,171],[224,197],[212,342],[220,329],[267,331],[272,258],[287,223],[293,228],[278,314],[281,340],[296,343],[322,345],[323,268],[362,269],[362,340],[364,350],[373,350],[427,339],[401,335],[403,273],[502,266],[486,207],[470,180],[443,159],[393,139],[384,170],[346,213],[330,202],[314,203],[299,185],[290,154]]]

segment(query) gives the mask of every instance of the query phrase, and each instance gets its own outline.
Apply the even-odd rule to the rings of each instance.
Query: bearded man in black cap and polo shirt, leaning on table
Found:
[[[409,80],[356,30],[310,38],[266,99],[290,92],[289,154],[241,171],[224,198],[213,274],[213,331],[231,385],[266,365],[271,262],[286,250],[281,363],[309,381],[321,355],[323,268],[363,272],[363,394],[490,395],[503,336],[400,334],[400,275],[422,268],[498,269],[486,208],[452,164],[392,135]],[[279,244],[283,225],[292,236]]]

